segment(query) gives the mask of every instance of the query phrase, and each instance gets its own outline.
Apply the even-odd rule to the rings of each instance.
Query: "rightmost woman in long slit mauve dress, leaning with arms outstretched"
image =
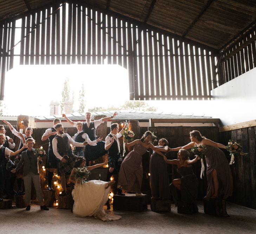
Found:
[[[206,139],[199,131],[190,132],[191,142],[183,147],[173,148],[169,151],[179,149],[190,149],[193,146],[205,145],[206,175],[208,188],[205,199],[217,198],[223,195],[223,199],[232,195],[233,179],[225,154],[219,149],[226,149],[226,146]]]

